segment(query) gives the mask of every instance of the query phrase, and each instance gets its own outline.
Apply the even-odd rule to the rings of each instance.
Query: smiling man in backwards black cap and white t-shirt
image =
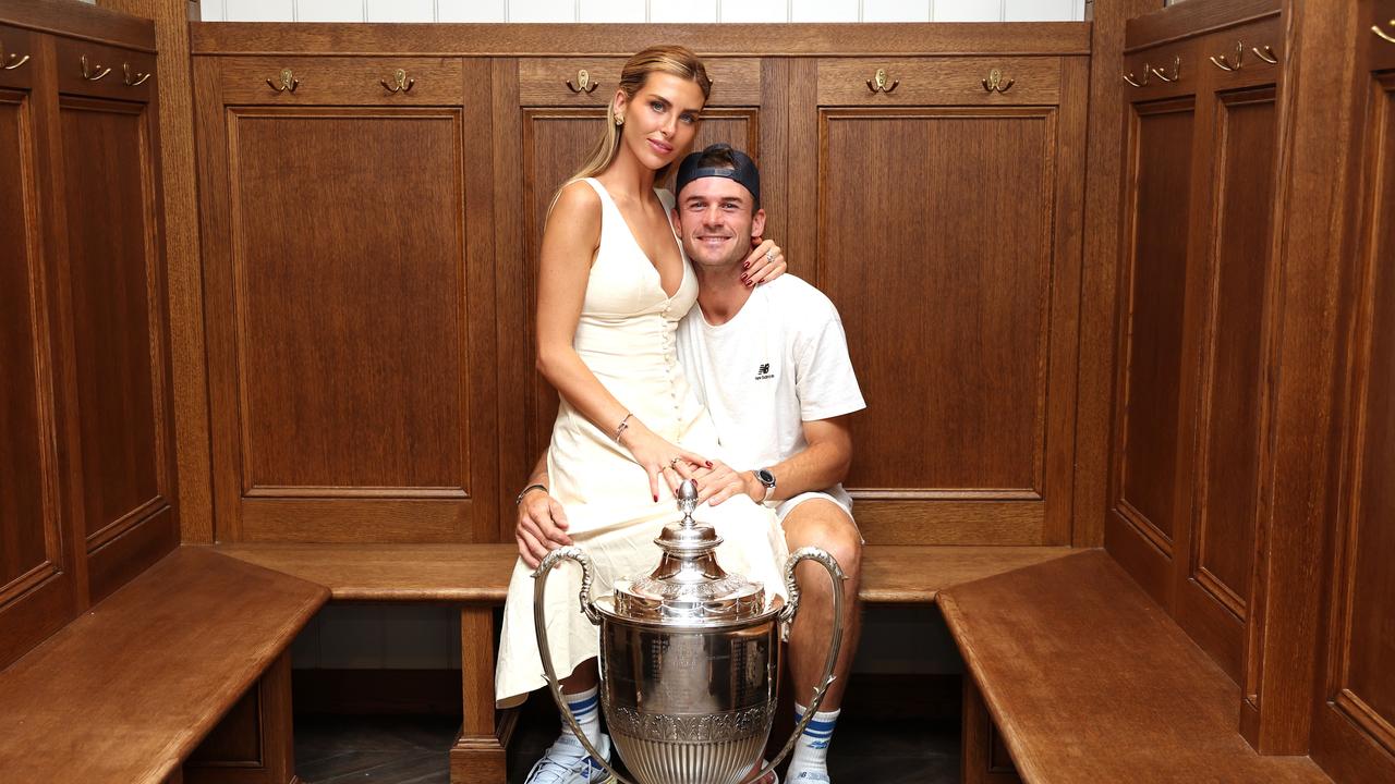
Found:
[[[751,158],[711,145],[684,159],[675,187],[671,218],[699,285],[698,307],[678,328],[678,354],[711,412],[723,451],[739,467],[714,462],[711,469],[684,467],[682,474],[698,483],[699,498],[709,504],[745,492],[773,506],[791,551],[820,547],[848,575],[841,587],[848,619],[837,679],[787,773],[788,781],[829,783],[827,748],[861,631],[862,537],[840,483],[852,459],[847,417],[866,405],[833,303],[794,275],[748,285],[742,261],[766,220],[760,174]],[[547,494],[545,460],[519,497],[516,538],[530,566],[548,550],[571,544],[565,509]],[[813,564],[801,564],[797,579],[801,604],[790,632],[790,670],[802,716],[801,703],[813,695],[827,656],[834,589]],[[579,770],[586,773],[585,766]]]

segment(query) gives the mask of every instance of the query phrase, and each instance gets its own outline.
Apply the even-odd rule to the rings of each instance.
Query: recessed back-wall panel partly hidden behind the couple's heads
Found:
[[[597,93],[600,89],[597,89]],[[543,243],[543,229],[547,225],[548,206],[558,187],[571,177],[594,146],[604,121],[604,102],[600,109],[531,109],[522,110],[523,138],[523,216],[525,251],[523,271],[527,292],[527,353],[518,367],[531,368],[537,350],[534,340],[534,310],[537,301],[537,264]],[[709,109],[703,112],[702,126],[693,140],[692,149],[709,144],[727,142],[751,152],[760,163],[760,114],[756,109]],[[672,188],[672,173],[657,187]],[[776,237],[778,241],[780,239]],[[557,419],[557,391],[540,374],[529,370],[533,379],[529,398],[527,453],[536,459],[552,438],[552,423]],[[515,480],[518,481],[518,480]]]

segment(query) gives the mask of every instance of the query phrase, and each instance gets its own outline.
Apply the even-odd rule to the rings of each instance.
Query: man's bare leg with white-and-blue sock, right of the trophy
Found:
[[[862,633],[862,611],[858,604],[858,585],[862,571],[862,534],[857,525],[833,501],[813,498],[790,511],[784,519],[785,543],[790,551],[806,545],[819,547],[837,559],[847,580],[843,583],[843,649],[833,670],[836,679],[819,706],[819,714],[809,724],[795,746],[787,781],[827,781],[824,757],[833,735],[833,724],[843,704],[848,685],[848,671]],[[790,629],[790,674],[798,709],[806,709],[817,678],[829,656],[829,631],[833,628],[833,586],[829,573],[815,562],[804,562],[795,569],[799,583],[799,612]],[[817,776],[817,774],[822,774]]]

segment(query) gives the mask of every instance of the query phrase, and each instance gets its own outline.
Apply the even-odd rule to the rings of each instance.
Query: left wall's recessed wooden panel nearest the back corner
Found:
[[[179,543],[159,148],[140,100],[63,96],[59,127],[82,534],[96,601]]]

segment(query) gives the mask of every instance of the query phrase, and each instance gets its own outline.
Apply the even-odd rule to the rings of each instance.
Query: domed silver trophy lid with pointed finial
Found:
[[[692,480],[679,485],[678,508],[684,519],[665,526],[654,540],[663,550],[658,566],[647,576],[615,582],[614,614],[636,621],[713,626],[760,615],[766,610],[764,587],[723,571],[714,554],[721,537],[711,526],[693,520],[698,485]]]

